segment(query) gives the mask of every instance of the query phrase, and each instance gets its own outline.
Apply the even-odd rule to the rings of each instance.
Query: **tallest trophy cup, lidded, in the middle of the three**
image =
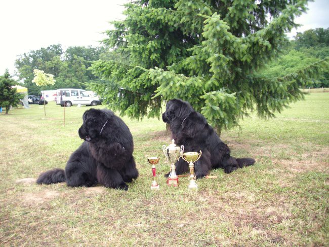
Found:
[[[172,144],[168,147],[166,145],[162,146],[163,153],[170,161],[170,173],[167,180],[167,184],[170,186],[178,186],[178,177],[176,174],[176,166],[175,163],[181,157],[182,153],[184,152],[184,146],[181,147],[176,146],[175,140],[172,140]]]

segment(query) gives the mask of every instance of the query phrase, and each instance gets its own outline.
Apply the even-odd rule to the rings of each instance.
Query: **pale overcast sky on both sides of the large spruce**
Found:
[[[14,75],[19,54],[54,44],[99,46],[111,29],[109,21],[124,19],[127,0],[10,0],[0,2],[0,75],[6,68]],[[329,27],[329,1],[315,0],[308,12],[296,19],[302,24],[297,31]]]

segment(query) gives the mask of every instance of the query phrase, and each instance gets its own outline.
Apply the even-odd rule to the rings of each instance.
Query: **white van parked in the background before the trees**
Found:
[[[90,96],[86,90],[76,88],[61,88],[56,92],[56,104],[70,107],[72,104],[98,105],[102,101],[97,96]]]

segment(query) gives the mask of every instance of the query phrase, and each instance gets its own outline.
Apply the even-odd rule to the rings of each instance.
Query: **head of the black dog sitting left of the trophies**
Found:
[[[78,130],[80,138],[87,142],[95,142],[107,120],[107,116],[103,111],[98,109],[87,110],[83,115],[83,124]]]

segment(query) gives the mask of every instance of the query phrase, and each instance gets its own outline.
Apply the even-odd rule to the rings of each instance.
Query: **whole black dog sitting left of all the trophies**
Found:
[[[128,190],[126,182],[136,179],[138,170],[133,157],[133,136],[125,122],[112,111],[90,109],[84,113],[78,133],[85,142],[72,153],[65,171],[46,171],[36,183],[66,182],[71,187],[102,184]]]

